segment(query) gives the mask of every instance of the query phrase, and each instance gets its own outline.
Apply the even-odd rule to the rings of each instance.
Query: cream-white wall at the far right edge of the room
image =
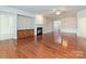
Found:
[[[77,36],[86,38],[86,10],[77,13]]]

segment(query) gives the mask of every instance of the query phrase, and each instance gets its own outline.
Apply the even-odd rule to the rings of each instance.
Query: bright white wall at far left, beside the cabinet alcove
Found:
[[[0,12],[0,40],[16,39],[16,14]]]

